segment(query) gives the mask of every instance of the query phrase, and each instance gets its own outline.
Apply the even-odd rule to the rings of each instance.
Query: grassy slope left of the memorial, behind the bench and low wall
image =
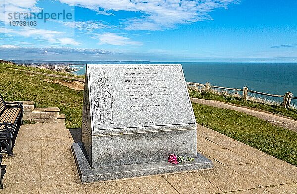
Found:
[[[6,101],[33,100],[36,107],[59,107],[68,128],[81,127],[83,91],[48,83],[45,79],[57,78],[0,66],[0,93]]]

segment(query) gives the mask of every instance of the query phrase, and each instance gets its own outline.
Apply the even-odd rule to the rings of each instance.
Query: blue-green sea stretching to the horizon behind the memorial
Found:
[[[284,95],[297,96],[297,63],[265,62],[148,62],[148,61],[14,61],[18,64],[65,64],[75,67],[75,75],[84,75],[85,64],[182,64],[186,81],[228,88],[243,88]],[[259,95],[255,95],[258,97]],[[281,97],[262,96],[281,102]],[[297,100],[292,99],[297,107]]]

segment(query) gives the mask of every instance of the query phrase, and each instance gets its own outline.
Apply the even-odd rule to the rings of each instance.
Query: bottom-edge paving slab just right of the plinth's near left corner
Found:
[[[133,194],[123,180],[91,183],[85,186],[88,194]]]

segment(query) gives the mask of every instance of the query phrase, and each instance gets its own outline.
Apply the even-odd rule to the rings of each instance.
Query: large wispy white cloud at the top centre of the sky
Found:
[[[126,21],[127,30],[161,30],[177,24],[211,19],[209,12],[240,0],[59,0],[95,11],[134,11],[141,18]]]

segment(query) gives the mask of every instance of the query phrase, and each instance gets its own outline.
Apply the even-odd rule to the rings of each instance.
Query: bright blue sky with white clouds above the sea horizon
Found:
[[[71,13],[11,26],[9,13]],[[297,62],[296,0],[1,0],[0,59]]]

